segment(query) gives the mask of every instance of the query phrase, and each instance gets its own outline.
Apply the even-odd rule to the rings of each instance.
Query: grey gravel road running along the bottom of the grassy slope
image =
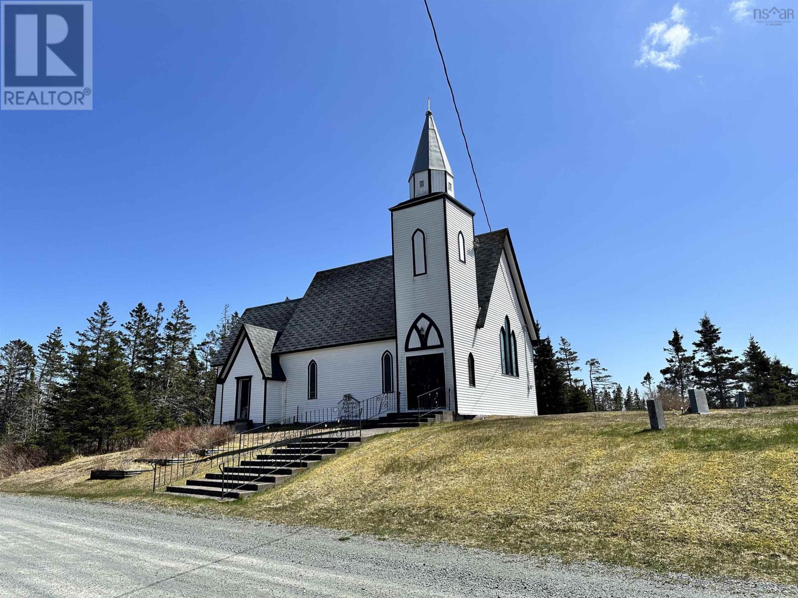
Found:
[[[798,596],[448,545],[0,495],[0,596]]]

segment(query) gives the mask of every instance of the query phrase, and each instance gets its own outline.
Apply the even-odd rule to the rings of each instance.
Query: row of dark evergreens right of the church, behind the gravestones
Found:
[[[666,409],[678,409],[687,404],[690,388],[703,389],[709,406],[721,409],[733,407],[734,395],[741,390],[746,391],[749,404],[757,407],[798,403],[798,375],[778,357],[768,356],[753,336],[742,355],[734,356],[721,344],[721,329],[706,314],[695,332],[697,339],[689,349],[684,336],[674,329],[663,348],[662,379],[656,381],[646,372],[640,383],[642,393],[628,386],[624,390],[595,358],[581,364],[562,336],[556,349],[551,338],[541,339],[535,348],[539,413],[631,411],[645,409],[646,399],[654,397],[662,399]]]

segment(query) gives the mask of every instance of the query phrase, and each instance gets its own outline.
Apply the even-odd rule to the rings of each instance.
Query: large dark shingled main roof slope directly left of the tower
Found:
[[[396,338],[393,256],[316,273],[275,353]]]

